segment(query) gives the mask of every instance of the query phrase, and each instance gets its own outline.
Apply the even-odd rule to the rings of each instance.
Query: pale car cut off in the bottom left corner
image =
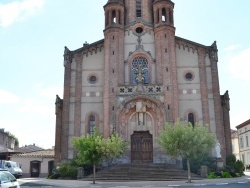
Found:
[[[20,188],[18,181],[7,170],[0,170],[0,187],[1,188]]]

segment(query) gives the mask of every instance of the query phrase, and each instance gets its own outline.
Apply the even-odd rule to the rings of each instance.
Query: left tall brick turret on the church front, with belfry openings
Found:
[[[123,0],[109,0],[104,6],[104,86],[103,133],[109,136],[115,127],[118,85],[124,83],[124,13]]]

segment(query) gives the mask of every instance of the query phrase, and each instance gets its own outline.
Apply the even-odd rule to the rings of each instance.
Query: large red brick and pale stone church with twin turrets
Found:
[[[64,50],[55,162],[73,159],[72,139],[96,127],[129,143],[118,162],[170,163],[156,138],[177,119],[209,125],[225,162],[232,154],[230,106],[228,91],[220,94],[216,42],[176,36],[171,0],[107,0],[104,13],[104,39]]]

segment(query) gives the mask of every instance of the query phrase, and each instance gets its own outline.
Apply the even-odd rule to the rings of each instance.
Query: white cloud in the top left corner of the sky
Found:
[[[45,0],[21,0],[0,4],[0,27],[8,27],[25,20],[43,7]]]

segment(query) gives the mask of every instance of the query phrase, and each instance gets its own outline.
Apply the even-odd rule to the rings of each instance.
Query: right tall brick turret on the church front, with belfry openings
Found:
[[[164,104],[169,118],[179,116],[177,67],[175,52],[174,3],[171,0],[154,0],[154,33],[156,56],[156,80],[163,85]]]

